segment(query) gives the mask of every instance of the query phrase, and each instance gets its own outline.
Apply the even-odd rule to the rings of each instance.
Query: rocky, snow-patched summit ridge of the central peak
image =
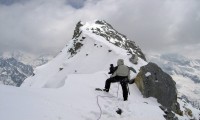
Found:
[[[117,47],[123,48],[127,51],[127,54],[137,54],[140,58],[146,61],[143,52],[138,46],[136,46],[134,41],[129,40],[125,35],[116,31],[109,23],[104,20],[95,20],[86,23],[80,21],[77,23],[73,35],[73,39],[76,41],[74,42],[76,49],[79,49],[83,45],[81,42],[77,42],[78,39],[82,39],[81,41],[83,41],[85,35],[88,34],[93,34],[92,36],[96,35],[98,37],[104,38],[102,40],[106,40],[107,42]],[[76,49],[74,49],[74,51],[76,51]]]

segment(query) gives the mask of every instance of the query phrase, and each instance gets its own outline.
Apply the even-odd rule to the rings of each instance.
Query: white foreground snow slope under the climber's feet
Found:
[[[72,74],[60,88],[13,88],[0,86],[2,120],[164,120],[163,111],[154,98],[145,99],[135,85],[130,86],[129,101],[124,102],[121,87],[111,86],[110,93],[95,91],[103,87],[105,72]],[[117,97],[118,93],[118,97]],[[6,94],[6,95],[5,95]],[[15,100],[9,102],[8,100]],[[12,108],[12,109],[11,109]],[[115,111],[121,108],[122,115]],[[20,110],[19,110],[20,109]],[[12,115],[9,115],[12,114]]]

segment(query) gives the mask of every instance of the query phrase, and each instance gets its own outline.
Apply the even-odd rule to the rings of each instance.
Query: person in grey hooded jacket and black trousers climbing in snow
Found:
[[[113,67],[113,65],[111,64],[109,74],[112,75],[110,76],[110,78],[106,80],[105,89],[103,89],[103,91],[109,92],[111,83],[120,82],[122,86],[124,101],[127,101],[128,100],[127,86],[130,79],[129,67],[124,65],[123,59],[119,59],[117,61],[117,67]]]

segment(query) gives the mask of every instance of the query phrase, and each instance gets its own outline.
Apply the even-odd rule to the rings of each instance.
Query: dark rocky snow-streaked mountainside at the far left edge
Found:
[[[18,62],[14,58],[0,58],[0,84],[19,87],[32,74],[31,66]]]

